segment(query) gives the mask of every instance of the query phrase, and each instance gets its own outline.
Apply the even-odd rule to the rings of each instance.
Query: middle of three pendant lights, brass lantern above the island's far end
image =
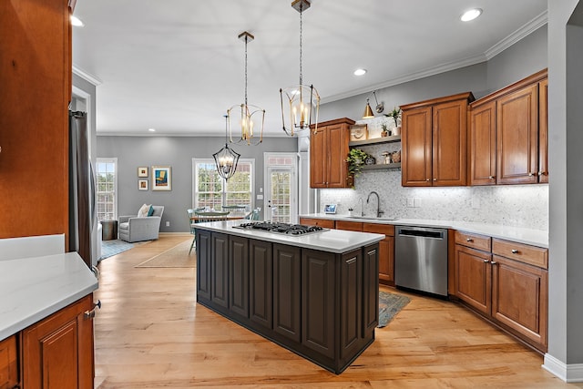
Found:
[[[252,106],[247,104],[247,43],[251,42],[255,39],[255,36],[252,36],[247,31],[240,33],[239,39],[245,42],[245,101],[243,104],[239,104],[236,106],[232,106],[227,110],[227,117],[228,117],[228,126],[229,126],[229,134],[230,134],[230,141],[233,142],[232,137],[232,128],[231,128],[231,120],[232,116],[236,115],[233,109],[240,108],[240,138],[234,140],[235,142],[247,142],[248,145],[253,143],[254,145],[259,145],[263,141],[263,125],[265,122],[265,109],[262,109],[257,106]],[[259,118],[258,122],[261,122],[261,128],[259,129],[259,138],[254,137],[254,129],[255,123],[253,122],[253,118]],[[237,138],[237,137],[236,137]]]

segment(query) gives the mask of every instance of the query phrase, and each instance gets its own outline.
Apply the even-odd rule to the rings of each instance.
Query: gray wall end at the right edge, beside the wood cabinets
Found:
[[[583,123],[583,4],[579,0],[548,0],[547,4],[548,165],[552,175],[549,182],[549,323],[545,365],[552,369],[553,359],[570,365],[583,363],[583,261],[580,253],[583,236],[583,176],[580,174],[583,166],[580,130]],[[574,370],[579,379],[583,379],[580,367]]]

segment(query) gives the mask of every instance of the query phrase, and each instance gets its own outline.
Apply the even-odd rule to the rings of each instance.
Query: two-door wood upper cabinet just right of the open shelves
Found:
[[[402,106],[404,187],[466,184],[471,92]]]

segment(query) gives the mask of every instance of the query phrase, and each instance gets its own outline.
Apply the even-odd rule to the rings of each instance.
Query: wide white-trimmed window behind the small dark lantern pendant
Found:
[[[239,159],[235,174],[222,179],[214,159],[192,159],[194,208],[222,210],[225,205],[253,209],[255,160]]]

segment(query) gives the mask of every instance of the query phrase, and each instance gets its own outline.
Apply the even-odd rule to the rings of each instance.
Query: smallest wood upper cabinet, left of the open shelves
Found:
[[[310,187],[350,188],[348,178],[348,142],[354,120],[341,118],[318,124],[310,135]]]

